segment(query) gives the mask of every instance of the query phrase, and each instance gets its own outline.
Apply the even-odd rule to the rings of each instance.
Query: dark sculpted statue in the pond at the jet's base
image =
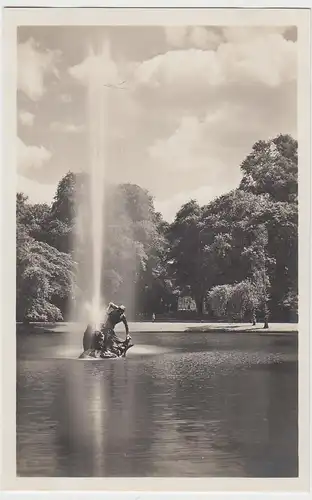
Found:
[[[115,326],[123,323],[126,329],[126,340],[121,340],[115,333]],[[125,357],[132,347],[129,327],[124,306],[116,306],[112,302],[106,312],[106,319],[99,330],[87,326],[83,336],[83,350],[80,358],[110,359]]]

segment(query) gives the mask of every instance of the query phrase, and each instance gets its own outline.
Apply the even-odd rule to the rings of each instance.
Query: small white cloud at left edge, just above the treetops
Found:
[[[17,138],[17,169],[20,174],[30,169],[39,169],[52,157],[52,153],[44,146],[26,146]]]

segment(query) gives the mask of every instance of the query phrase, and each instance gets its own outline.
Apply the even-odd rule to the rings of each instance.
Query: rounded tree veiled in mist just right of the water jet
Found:
[[[162,295],[168,292],[163,281],[166,225],[155,212],[152,197],[133,184],[111,187],[106,213],[104,234],[109,244],[104,258],[105,291],[132,302],[133,310],[149,309],[151,295],[164,301]],[[115,289],[107,279],[112,270],[120,277],[115,280]]]

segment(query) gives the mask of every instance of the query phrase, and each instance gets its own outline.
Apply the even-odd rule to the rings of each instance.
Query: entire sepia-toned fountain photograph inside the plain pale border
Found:
[[[298,479],[297,12],[100,11],[15,31],[16,477]]]

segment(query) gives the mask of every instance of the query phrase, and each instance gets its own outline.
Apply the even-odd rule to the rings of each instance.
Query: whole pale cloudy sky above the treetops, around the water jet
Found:
[[[51,202],[62,175],[86,168],[92,75],[112,85],[111,181],[147,188],[169,221],[191,198],[208,203],[238,185],[255,141],[296,137],[296,46],[292,27],[19,28],[18,189]]]

